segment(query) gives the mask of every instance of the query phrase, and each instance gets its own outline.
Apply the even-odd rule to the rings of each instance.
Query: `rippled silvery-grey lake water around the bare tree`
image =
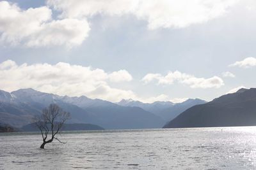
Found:
[[[256,169],[256,127],[0,134],[0,169]]]

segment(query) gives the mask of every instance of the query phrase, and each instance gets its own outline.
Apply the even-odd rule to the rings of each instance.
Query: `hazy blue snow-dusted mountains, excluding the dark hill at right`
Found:
[[[104,129],[160,128],[179,115],[179,111],[181,113],[198,104],[198,101],[205,103],[199,99],[190,99],[180,104],[124,101],[111,103],[86,96],[58,96],[33,89],[14,92],[0,90],[0,123],[13,127],[31,124],[31,119],[39,115],[42,109],[56,103],[63,110],[70,112],[72,119],[68,124],[94,124]]]

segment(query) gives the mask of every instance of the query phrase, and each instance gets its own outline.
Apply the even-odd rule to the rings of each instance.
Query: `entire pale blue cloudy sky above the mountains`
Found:
[[[256,87],[253,0],[0,1],[0,89],[145,103]]]

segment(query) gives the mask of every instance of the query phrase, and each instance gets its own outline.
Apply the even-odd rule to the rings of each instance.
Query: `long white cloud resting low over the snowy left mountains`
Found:
[[[12,60],[6,60],[0,63],[0,89],[9,92],[33,88],[58,95],[85,95],[93,99],[120,101],[123,98],[137,96],[131,90],[110,87],[108,81],[127,81],[131,79],[130,76],[131,74],[125,70],[106,73],[102,69],[70,65],[65,62],[58,62],[55,65],[17,65]]]

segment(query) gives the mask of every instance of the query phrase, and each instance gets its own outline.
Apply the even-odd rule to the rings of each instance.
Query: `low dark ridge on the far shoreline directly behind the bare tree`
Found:
[[[36,128],[35,124],[28,124],[24,125],[20,128],[21,131],[25,132],[33,132],[39,131]],[[62,131],[88,131],[88,130],[104,130],[104,128],[100,127],[99,125],[93,124],[64,124]]]

